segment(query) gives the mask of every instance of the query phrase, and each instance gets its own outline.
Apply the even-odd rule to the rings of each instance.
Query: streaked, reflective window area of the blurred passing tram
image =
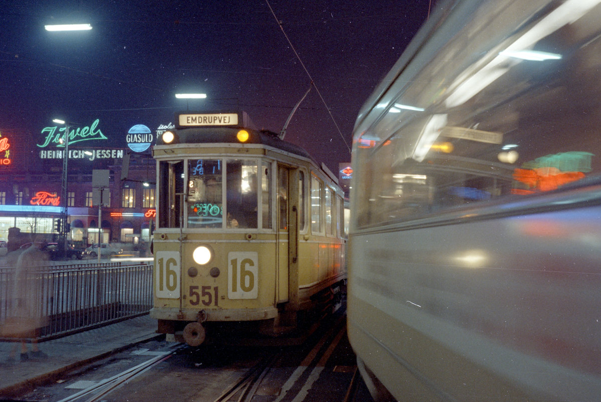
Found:
[[[403,69],[376,108],[387,113],[359,122],[353,139],[354,163],[369,167],[355,178],[359,226],[599,175],[601,143],[591,134],[601,126],[601,35],[589,22],[601,8],[575,17],[566,7],[506,32],[485,29],[469,49],[466,26],[423,55],[429,63]],[[487,26],[511,12],[525,10],[490,13]]]

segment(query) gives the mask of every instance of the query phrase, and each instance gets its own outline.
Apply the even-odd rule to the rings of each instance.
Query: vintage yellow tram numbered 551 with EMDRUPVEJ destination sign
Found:
[[[246,114],[176,120],[153,150],[151,317],[190,345],[226,332],[289,332],[346,279],[337,179],[278,134],[243,124]]]

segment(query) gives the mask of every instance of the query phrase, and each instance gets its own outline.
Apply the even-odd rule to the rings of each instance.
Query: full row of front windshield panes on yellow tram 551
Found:
[[[160,226],[257,229],[261,221],[263,229],[272,227],[269,163],[254,159],[188,159],[186,164],[186,188],[183,162],[159,164]],[[181,198],[182,194],[186,197]]]

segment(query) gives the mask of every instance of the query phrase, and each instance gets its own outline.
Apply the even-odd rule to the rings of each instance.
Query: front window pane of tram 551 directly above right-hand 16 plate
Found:
[[[257,228],[257,162],[230,160],[226,172],[228,227]]]

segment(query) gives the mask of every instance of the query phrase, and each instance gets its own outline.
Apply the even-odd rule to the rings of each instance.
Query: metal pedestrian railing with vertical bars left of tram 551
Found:
[[[147,264],[0,268],[0,340],[44,341],[147,314],[152,273]]]

